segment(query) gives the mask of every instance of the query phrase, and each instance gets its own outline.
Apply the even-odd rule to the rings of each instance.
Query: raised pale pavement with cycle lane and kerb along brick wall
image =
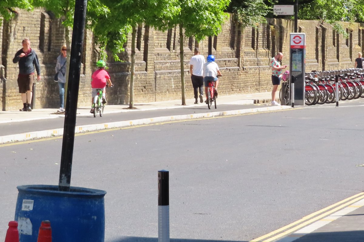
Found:
[[[94,118],[90,114],[90,107],[78,107],[75,132],[290,108],[289,106],[271,106],[270,96],[270,92],[219,95],[217,109],[212,107],[211,110],[205,103],[194,104],[194,99],[187,99],[185,106],[181,105],[181,100],[137,103],[134,105],[135,109],[127,109],[128,105],[107,105],[102,118]],[[64,114],[57,113],[56,110],[56,108],[42,108],[31,112],[0,111],[0,131],[3,134],[0,136],[0,143],[62,135],[63,121],[61,120]],[[128,119],[129,116],[132,118]],[[41,128],[35,128],[35,123],[39,123]]]

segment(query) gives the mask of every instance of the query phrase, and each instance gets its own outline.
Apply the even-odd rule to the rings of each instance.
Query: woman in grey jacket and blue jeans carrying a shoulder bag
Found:
[[[61,54],[57,57],[56,72],[58,72],[58,88],[60,108],[57,112],[64,112],[64,84],[66,83],[67,46],[62,45]]]

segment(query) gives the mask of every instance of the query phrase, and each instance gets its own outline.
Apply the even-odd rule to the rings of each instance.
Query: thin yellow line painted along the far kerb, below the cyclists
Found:
[[[209,115],[206,115],[207,117],[204,117],[204,118],[169,120],[169,121],[166,121],[166,122],[159,122],[159,123],[139,124],[139,125],[127,126],[127,127],[116,127],[116,128],[108,128],[108,129],[104,129],[104,130],[86,131],[84,133],[75,134],[75,136],[96,134],[96,133],[100,133],[100,132],[109,132],[109,131],[115,131],[115,130],[126,130],[126,129],[130,129],[130,128],[140,128],[140,127],[147,127],[147,126],[154,126],[154,125],[163,125],[163,124],[169,124],[169,123],[181,123],[181,122],[190,122],[190,121],[208,120],[208,119],[218,119],[218,118],[231,118],[231,117],[236,117],[236,116],[264,114],[264,113],[270,113],[270,112],[288,111],[288,110],[297,110],[297,109],[301,109],[301,108],[294,108],[294,109],[293,108],[288,108],[288,109],[281,109],[281,110],[259,111],[259,112],[243,113],[243,114],[232,114],[232,115],[226,115],[226,116],[209,116]],[[209,114],[209,113],[207,113],[207,114]],[[130,124],[132,124],[133,121],[130,120],[129,122],[130,122]],[[81,130],[82,130],[82,127],[79,127],[79,128],[81,128]],[[41,142],[41,141],[60,139],[60,138],[63,138],[63,135],[56,136],[56,137],[50,137],[50,138],[48,138],[48,137],[47,138],[40,138],[40,139],[35,139],[35,140],[25,140],[25,141],[20,141],[20,142],[15,142],[15,143],[0,144],[0,147],[12,146],[12,145],[17,145],[17,144],[27,144],[27,143]]]

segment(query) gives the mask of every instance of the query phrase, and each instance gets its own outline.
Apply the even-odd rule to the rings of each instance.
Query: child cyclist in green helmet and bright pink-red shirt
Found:
[[[109,86],[112,86],[110,76],[107,71],[105,71],[106,63],[103,60],[98,60],[96,62],[97,70],[92,73],[92,101],[91,101],[91,114],[94,113],[94,109],[92,108],[92,104],[94,103],[94,98],[97,95],[97,89],[102,89],[102,103],[106,103],[106,82]]]

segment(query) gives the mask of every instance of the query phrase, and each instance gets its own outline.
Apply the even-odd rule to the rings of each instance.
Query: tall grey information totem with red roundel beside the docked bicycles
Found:
[[[282,91],[281,104],[293,107],[294,104],[305,105],[306,34],[290,33],[289,39],[290,96],[284,97],[285,92]],[[282,83],[282,88],[285,88],[284,84]]]

